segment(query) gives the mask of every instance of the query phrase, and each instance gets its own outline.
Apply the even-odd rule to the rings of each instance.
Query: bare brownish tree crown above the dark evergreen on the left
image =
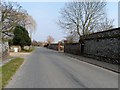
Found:
[[[12,32],[17,25],[26,27],[33,27],[33,18],[31,21],[30,15],[18,3],[1,2],[1,32],[2,38],[6,36],[13,36]],[[28,23],[29,22],[29,23]],[[31,28],[30,27],[30,28]]]

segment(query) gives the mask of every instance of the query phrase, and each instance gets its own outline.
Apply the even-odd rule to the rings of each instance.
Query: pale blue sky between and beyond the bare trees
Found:
[[[64,39],[64,32],[56,24],[60,9],[64,7],[64,2],[19,2],[35,19],[37,28],[32,38],[37,41],[46,41],[48,35],[53,36],[55,41]],[[118,26],[118,3],[109,2],[106,7],[107,16],[114,19],[114,26]]]

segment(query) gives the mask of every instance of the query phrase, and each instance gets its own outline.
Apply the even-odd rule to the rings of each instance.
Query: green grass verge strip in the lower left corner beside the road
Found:
[[[12,76],[16,73],[23,61],[23,58],[16,58],[2,66],[2,88],[12,79]]]

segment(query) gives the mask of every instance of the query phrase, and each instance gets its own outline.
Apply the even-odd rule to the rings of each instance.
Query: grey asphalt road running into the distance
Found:
[[[118,88],[118,74],[57,51],[37,48],[6,88]]]

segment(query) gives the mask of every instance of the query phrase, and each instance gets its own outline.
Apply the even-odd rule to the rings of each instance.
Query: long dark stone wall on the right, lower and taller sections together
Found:
[[[118,64],[120,61],[120,28],[87,35],[84,37],[84,45],[65,44],[64,51]]]

